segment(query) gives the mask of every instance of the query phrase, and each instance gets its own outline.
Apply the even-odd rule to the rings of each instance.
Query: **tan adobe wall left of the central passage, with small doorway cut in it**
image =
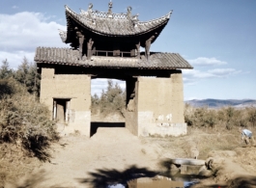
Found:
[[[54,74],[53,67],[42,68],[42,103],[53,111],[53,98],[71,98],[68,125],[62,131],[90,137],[91,126],[91,77],[82,74]],[[52,118],[52,117],[51,117]]]

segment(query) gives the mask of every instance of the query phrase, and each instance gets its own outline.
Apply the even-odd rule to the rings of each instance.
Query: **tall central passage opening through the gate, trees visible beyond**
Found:
[[[117,79],[91,80],[91,133],[100,127],[126,127],[126,87]]]

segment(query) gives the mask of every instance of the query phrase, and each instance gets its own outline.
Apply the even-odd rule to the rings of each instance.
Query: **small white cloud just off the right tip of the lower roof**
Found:
[[[207,66],[220,66],[227,64],[226,62],[217,60],[216,58],[199,57],[194,60],[187,60],[192,66],[207,67]]]

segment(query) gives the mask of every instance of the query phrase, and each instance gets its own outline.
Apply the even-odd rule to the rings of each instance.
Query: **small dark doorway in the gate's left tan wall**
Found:
[[[64,123],[69,121],[69,106],[71,99],[53,99],[53,120]]]

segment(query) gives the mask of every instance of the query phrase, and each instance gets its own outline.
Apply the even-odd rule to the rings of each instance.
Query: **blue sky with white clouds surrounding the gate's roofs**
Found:
[[[23,57],[33,62],[37,46],[69,47],[58,29],[66,30],[64,5],[74,12],[107,12],[109,0],[1,0],[0,61],[16,68]],[[173,10],[152,51],[180,53],[194,69],[183,70],[185,100],[256,99],[255,0],[112,0],[114,13],[139,13],[147,21]],[[92,82],[100,93],[105,80]],[[121,83],[125,87],[125,83]]]

